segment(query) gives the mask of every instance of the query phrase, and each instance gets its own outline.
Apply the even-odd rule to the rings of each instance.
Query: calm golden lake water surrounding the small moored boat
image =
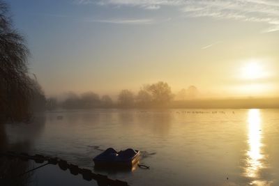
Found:
[[[96,171],[130,185],[279,185],[278,109],[53,111],[7,124],[6,135],[93,171],[101,150],[138,149],[151,169]],[[48,169],[38,174],[51,177]]]

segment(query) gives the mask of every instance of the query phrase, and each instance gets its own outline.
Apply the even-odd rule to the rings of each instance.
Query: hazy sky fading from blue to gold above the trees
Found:
[[[167,82],[204,97],[279,95],[277,0],[8,0],[46,95]]]

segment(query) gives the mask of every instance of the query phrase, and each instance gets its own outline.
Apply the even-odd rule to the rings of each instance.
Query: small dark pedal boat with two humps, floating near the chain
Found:
[[[114,148],[107,148],[103,153],[93,158],[97,167],[131,168],[140,160],[140,150],[128,148],[117,152]]]

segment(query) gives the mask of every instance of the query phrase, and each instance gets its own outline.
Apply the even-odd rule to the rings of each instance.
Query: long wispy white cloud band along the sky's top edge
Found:
[[[279,31],[278,0],[75,0],[79,4],[99,6],[130,6],[148,10],[172,6],[187,17],[262,22],[268,24],[264,32]]]

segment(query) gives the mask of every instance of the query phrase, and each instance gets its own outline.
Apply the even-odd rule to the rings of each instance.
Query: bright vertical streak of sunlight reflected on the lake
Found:
[[[246,176],[258,178],[259,169],[262,168],[262,130],[261,116],[259,109],[250,109],[248,112],[248,160]],[[253,182],[257,185],[257,181]]]

